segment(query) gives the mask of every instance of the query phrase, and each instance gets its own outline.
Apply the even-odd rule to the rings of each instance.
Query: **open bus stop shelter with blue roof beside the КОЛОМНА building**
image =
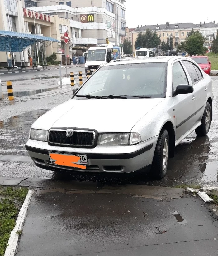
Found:
[[[44,37],[44,36],[38,36],[38,35],[32,35],[32,34],[24,34],[24,33],[18,33],[13,31],[0,30],[0,52],[6,52],[8,67],[10,67],[10,62],[8,61],[8,53],[10,53],[10,56],[11,56],[10,59],[12,64],[13,52],[19,52],[21,66],[23,66],[22,63],[24,63],[24,66],[25,66],[25,53],[24,53],[25,50],[33,51],[35,55],[35,59],[36,57],[38,57],[38,62],[39,62],[39,53],[38,53],[39,47],[41,49],[40,52],[41,52],[43,65],[44,65],[44,58],[45,58],[45,65],[47,65],[46,47],[48,47],[50,44],[54,42],[60,42],[60,41],[52,37]],[[23,52],[23,62],[21,61],[21,52]],[[29,60],[27,60],[27,62],[29,62]]]

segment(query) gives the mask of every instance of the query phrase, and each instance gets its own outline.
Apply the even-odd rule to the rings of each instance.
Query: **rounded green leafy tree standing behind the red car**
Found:
[[[204,54],[206,51],[206,47],[204,47],[204,37],[199,31],[194,31],[191,36],[188,36],[185,41],[181,43],[179,49],[186,51],[191,56]]]

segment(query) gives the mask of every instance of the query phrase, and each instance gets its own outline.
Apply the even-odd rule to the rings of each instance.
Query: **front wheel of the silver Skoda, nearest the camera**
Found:
[[[151,166],[151,174],[155,179],[160,180],[167,174],[168,160],[169,134],[168,131],[164,129],[160,132]]]

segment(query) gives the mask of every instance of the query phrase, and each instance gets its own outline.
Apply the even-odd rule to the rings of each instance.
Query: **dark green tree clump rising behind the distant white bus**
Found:
[[[140,32],[135,41],[135,49],[138,47],[154,48],[160,45],[160,38],[156,32],[152,32],[149,28],[146,29],[145,34]]]

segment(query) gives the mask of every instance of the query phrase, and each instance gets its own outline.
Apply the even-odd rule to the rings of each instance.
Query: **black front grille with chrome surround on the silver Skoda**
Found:
[[[67,130],[50,130],[48,142],[52,145],[93,146],[95,141],[94,131],[73,130],[71,137],[66,136]]]

